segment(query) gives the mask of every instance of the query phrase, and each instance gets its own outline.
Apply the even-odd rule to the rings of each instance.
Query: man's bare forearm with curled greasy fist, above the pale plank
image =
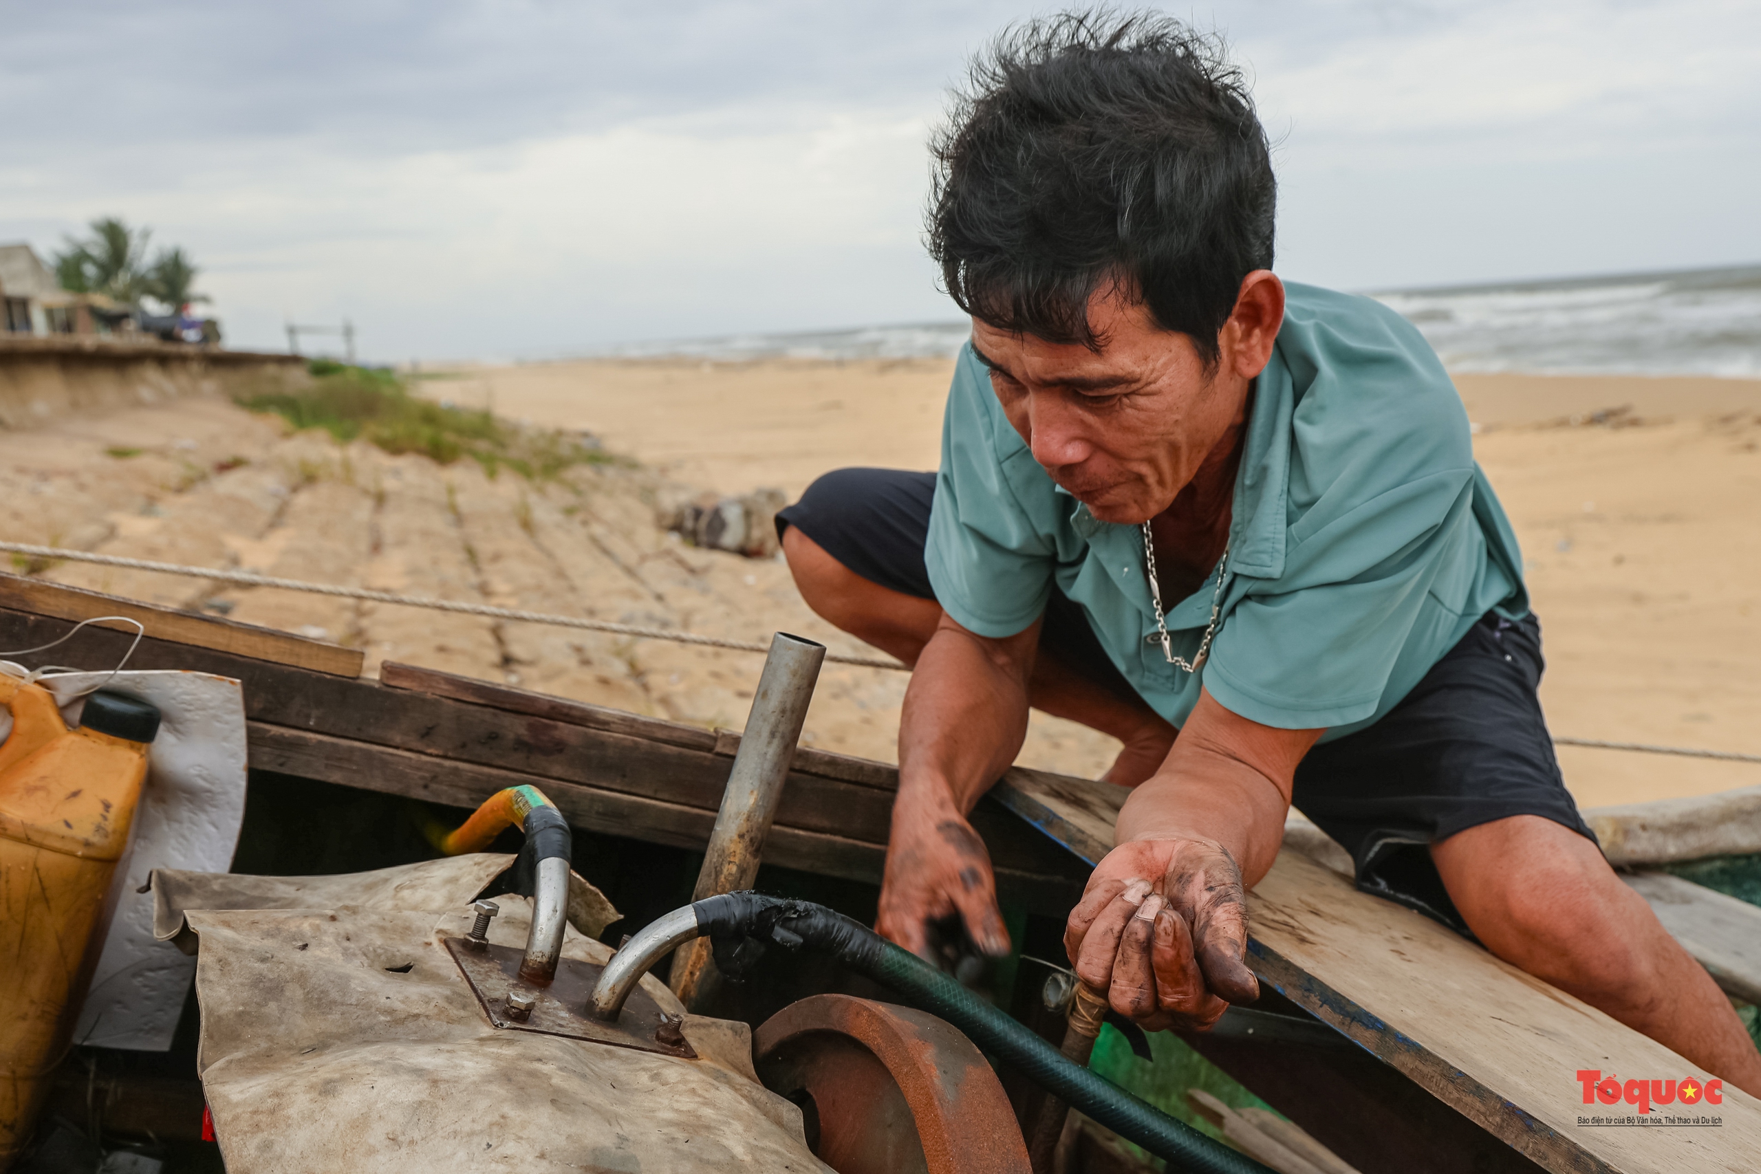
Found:
[[[1208,693],[1162,769],[1125,801],[1115,848],[1071,912],[1076,975],[1152,1030],[1208,1028],[1259,996],[1247,968],[1245,885],[1284,841],[1296,764],[1324,730],[1280,730]]]

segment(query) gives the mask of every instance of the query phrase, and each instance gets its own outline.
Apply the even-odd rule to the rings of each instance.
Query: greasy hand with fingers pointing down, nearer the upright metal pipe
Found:
[[[935,961],[926,922],[958,915],[981,950],[1007,956],[1009,931],[997,908],[997,880],[984,841],[951,804],[910,808],[902,799],[893,813],[875,931]]]

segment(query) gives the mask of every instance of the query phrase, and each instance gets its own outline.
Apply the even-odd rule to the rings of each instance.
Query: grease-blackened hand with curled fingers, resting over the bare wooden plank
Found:
[[[1064,949],[1078,979],[1150,1031],[1203,1031],[1229,1003],[1259,998],[1243,961],[1242,869],[1215,840],[1138,840],[1108,852],[1071,910]]]

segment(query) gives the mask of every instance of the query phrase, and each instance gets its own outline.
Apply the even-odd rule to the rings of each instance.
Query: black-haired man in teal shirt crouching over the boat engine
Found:
[[[1761,1093],[1712,979],[1613,875],[1541,718],[1522,554],[1423,338],[1271,273],[1240,72],[1175,21],[1000,40],[937,143],[972,315],[940,472],[842,470],[778,519],[807,602],[910,664],[879,928],[1009,949],[967,813],[1028,706],[1136,787],[1071,914],[1146,1028],[1257,996],[1243,885],[1294,804],[1358,884]]]

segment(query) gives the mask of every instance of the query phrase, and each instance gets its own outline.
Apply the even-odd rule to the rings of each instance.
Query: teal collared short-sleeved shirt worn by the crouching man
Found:
[[[1488,611],[1529,613],[1516,535],[1474,463],[1467,412],[1425,338],[1368,297],[1287,283],[1234,484],[1222,620],[1197,672],[1155,637],[1143,530],[1058,488],[962,352],[925,561],[979,635],[1028,627],[1053,584],[1132,688],[1182,725],[1199,690],[1278,729],[1370,725]],[[1210,621],[1215,572],[1164,600],[1175,653]]]

